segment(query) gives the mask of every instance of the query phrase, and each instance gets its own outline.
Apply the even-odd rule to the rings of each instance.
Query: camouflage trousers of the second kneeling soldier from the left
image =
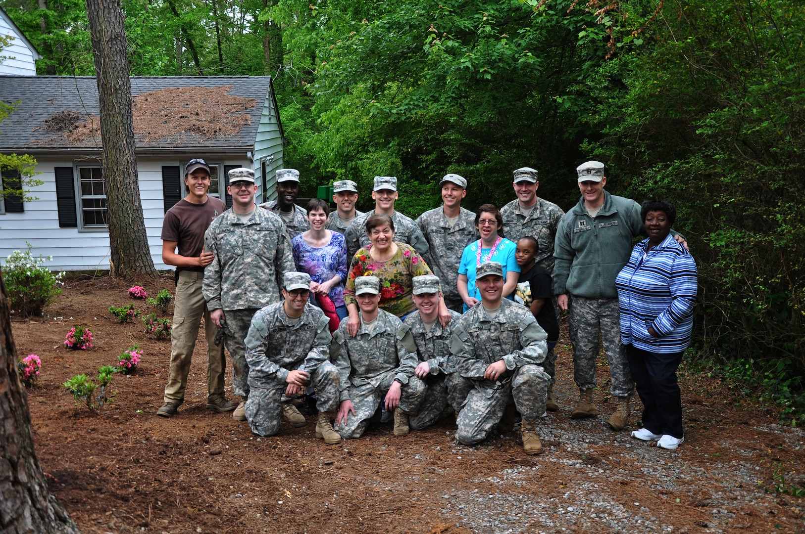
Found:
[[[355,439],[363,435],[372,416],[378,411],[380,400],[389,392],[394,376],[396,372],[386,372],[377,388],[372,384],[349,386],[349,398],[355,407],[355,415],[349,413],[346,424],[342,422],[341,425],[334,427],[341,437]],[[408,384],[403,384],[398,409],[404,413],[416,413],[424,399],[425,383],[416,376],[411,376]]]

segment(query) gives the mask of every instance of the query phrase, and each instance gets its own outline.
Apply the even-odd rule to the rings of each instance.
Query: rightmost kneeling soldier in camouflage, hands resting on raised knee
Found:
[[[525,306],[503,298],[503,266],[497,261],[478,266],[476,283],[482,306],[461,316],[450,345],[456,372],[474,382],[456,421],[456,438],[464,445],[484,440],[514,399],[522,414],[523,449],[539,454],[543,446],[537,417],[545,413],[551,384],[539,366],[547,352],[547,335]]]

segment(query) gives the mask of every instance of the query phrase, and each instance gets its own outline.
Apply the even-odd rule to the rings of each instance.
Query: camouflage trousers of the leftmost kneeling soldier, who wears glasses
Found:
[[[310,373],[308,384],[316,390],[316,408],[320,412],[336,413],[341,392],[338,369],[330,362],[323,362]],[[279,432],[283,421],[283,396],[286,383],[252,384],[246,400],[246,421],[258,436],[273,436]]]

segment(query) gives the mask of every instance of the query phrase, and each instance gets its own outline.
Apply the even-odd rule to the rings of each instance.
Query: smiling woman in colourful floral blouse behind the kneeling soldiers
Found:
[[[413,278],[421,274],[432,274],[431,268],[411,245],[394,241],[394,220],[390,216],[376,213],[366,220],[366,233],[371,243],[359,249],[353,257],[344,289],[344,302],[349,311],[347,331],[356,335],[361,321],[358,318],[355,301],[355,278],[375,276],[380,278],[380,307],[390,314],[404,318],[416,310],[411,290]],[[439,319],[442,324],[450,321],[450,312],[439,302]]]

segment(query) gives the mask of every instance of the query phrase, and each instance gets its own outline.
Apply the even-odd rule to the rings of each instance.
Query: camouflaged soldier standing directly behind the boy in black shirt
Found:
[[[523,236],[531,236],[537,240],[539,252],[535,263],[547,269],[553,276],[554,269],[554,242],[556,229],[562,220],[564,212],[555,203],[540,199],[537,196],[539,188],[539,173],[536,169],[522,167],[514,171],[514,192],[517,198],[501,208],[503,216],[503,234],[515,243]],[[554,298],[554,310],[559,319],[559,306]],[[559,409],[553,394],[553,384],[556,381],[555,362],[556,354],[551,348],[545,358],[545,370],[551,375],[551,388],[548,389],[548,409]]]

